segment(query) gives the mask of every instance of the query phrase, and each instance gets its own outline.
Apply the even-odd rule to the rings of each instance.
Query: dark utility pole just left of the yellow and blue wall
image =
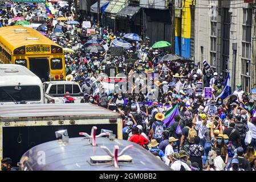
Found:
[[[169,4],[170,10],[170,53],[175,53],[175,9],[174,9],[174,0]]]

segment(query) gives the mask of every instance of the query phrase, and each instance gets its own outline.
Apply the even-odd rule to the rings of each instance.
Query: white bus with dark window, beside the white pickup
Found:
[[[38,76],[18,64],[0,64],[0,105],[43,104],[43,84]]]

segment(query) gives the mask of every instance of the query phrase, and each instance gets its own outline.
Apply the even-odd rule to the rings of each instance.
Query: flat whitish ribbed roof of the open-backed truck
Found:
[[[115,119],[120,118],[120,114],[90,103],[0,105],[0,122],[10,119],[11,121],[41,121],[60,118]]]

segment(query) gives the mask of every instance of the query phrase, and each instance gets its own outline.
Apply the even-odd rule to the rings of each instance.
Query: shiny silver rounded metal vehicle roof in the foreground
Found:
[[[32,147],[22,157],[27,158],[26,166],[31,166],[35,171],[160,171],[170,170],[166,164],[145,150],[136,143],[128,142],[127,140],[115,139],[113,141],[108,138],[96,138],[97,146],[91,146],[88,139],[84,137],[70,138],[68,143],[62,143],[60,140],[54,140],[39,144]],[[133,147],[127,150],[124,155],[132,157],[131,164],[119,163],[119,168],[111,166],[111,164],[101,164],[91,166],[91,156],[108,155],[100,146],[106,146],[112,152],[115,145],[119,146],[119,152],[124,147],[133,144]],[[38,152],[45,152],[46,164],[38,164]],[[22,161],[21,161],[22,162]]]

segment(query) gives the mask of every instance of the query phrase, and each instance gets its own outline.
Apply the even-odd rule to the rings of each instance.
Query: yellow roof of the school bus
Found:
[[[26,29],[27,31],[14,31],[15,29]],[[39,38],[39,40],[26,40],[25,38]],[[23,26],[1,27],[0,42],[2,42],[2,40],[6,40],[5,46],[9,47],[9,49],[35,44],[51,44],[60,47],[34,28]]]

